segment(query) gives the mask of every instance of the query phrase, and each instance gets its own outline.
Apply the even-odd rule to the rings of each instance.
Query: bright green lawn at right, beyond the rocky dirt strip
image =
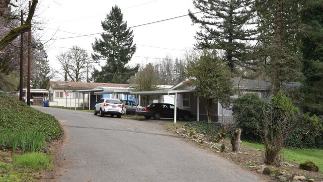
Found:
[[[264,145],[258,143],[242,142],[242,145],[264,150]],[[317,149],[292,149],[288,148],[283,151],[284,159],[301,164],[306,161],[314,162],[323,172],[323,150]]]

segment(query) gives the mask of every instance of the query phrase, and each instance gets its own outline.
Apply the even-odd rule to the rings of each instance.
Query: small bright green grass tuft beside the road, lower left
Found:
[[[16,155],[12,157],[13,164],[16,166],[24,166],[31,169],[48,169],[53,168],[53,157],[46,156],[42,153],[28,153],[24,155]]]

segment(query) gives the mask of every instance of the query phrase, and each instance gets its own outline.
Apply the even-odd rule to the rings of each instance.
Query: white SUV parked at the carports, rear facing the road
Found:
[[[112,117],[117,115],[118,118],[121,118],[124,111],[123,105],[119,99],[101,98],[98,102],[95,102],[94,115],[99,113],[102,117],[104,114],[110,114]]]

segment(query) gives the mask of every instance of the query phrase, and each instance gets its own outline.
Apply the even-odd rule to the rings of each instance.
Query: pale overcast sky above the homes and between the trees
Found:
[[[78,38],[67,37],[103,32],[101,21],[114,5],[121,8],[123,20],[128,22],[128,27],[185,15],[189,8],[192,12],[198,11],[194,9],[192,0],[40,1],[38,16],[47,21],[43,25],[41,40],[44,42],[53,37],[53,40],[46,43],[50,64],[55,69],[59,69],[60,65],[55,56],[60,52],[68,51],[74,45],[85,49],[90,55],[93,51],[91,43],[94,42],[95,37],[100,38],[99,34]],[[164,58],[166,55],[173,59],[176,57],[180,59],[185,53],[184,50],[193,47],[197,27],[192,25],[189,16],[184,16],[132,28],[137,51],[129,65],[146,63],[147,58],[148,62],[156,62],[154,58]],[[104,64],[104,61],[100,62],[101,66]]]

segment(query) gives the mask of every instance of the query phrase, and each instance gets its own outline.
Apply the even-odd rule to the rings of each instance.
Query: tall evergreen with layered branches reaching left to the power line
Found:
[[[224,61],[232,72],[237,65],[246,66],[248,40],[256,33],[253,22],[253,0],[193,0],[197,9],[203,11],[197,17],[189,10],[193,23],[201,24],[195,38],[197,49],[225,51]]]

